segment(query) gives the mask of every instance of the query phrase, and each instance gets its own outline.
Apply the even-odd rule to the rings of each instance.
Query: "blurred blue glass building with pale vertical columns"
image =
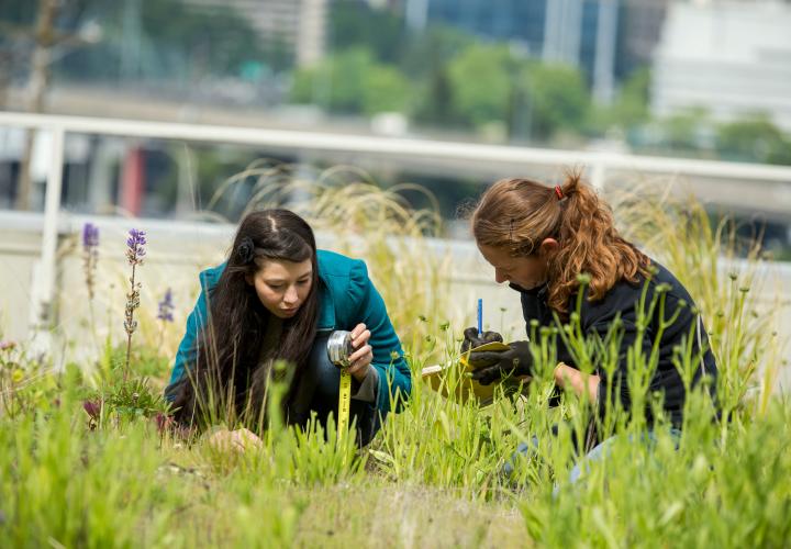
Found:
[[[406,0],[412,27],[432,22],[521,43],[549,63],[579,67],[609,104],[617,81],[650,61],[667,0]]]

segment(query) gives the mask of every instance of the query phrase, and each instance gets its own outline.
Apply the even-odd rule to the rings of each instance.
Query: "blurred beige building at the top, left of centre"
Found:
[[[261,43],[283,47],[298,66],[324,56],[327,0],[185,0],[194,8],[234,9],[258,31]]]

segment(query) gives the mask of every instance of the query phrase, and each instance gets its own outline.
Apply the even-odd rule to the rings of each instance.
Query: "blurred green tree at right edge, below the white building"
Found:
[[[716,147],[726,159],[791,164],[791,139],[766,114],[722,124]]]

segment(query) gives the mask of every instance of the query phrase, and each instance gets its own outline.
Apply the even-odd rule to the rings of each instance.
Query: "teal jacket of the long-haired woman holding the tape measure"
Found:
[[[352,330],[364,323],[370,330],[368,344],[374,349],[371,366],[379,373],[376,407],[387,414],[390,396],[397,391],[402,401],[412,390],[412,378],[403,359],[401,341],[390,323],[385,301],[368,278],[364,261],[320,249],[319,257],[319,332]],[[187,329],[176,354],[170,383],[180,380],[187,365],[197,359],[198,335],[207,314],[207,293],[220,280],[225,264],[200,273],[201,293],[187,318]]]

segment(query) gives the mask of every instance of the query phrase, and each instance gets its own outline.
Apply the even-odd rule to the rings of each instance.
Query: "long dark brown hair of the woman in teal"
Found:
[[[313,265],[311,291],[298,313],[282,321],[279,343],[263,349],[271,313],[248,283],[267,260]],[[259,422],[271,365],[279,359],[292,370],[288,401],[298,383],[316,333],[319,316],[319,266],[315,237],[310,225],[288,210],[264,210],[239,224],[225,269],[207,295],[209,318],[198,337],[194,365],[185,365],[174,401],[176,418],[202,425],[218,415],[250,425]]]

